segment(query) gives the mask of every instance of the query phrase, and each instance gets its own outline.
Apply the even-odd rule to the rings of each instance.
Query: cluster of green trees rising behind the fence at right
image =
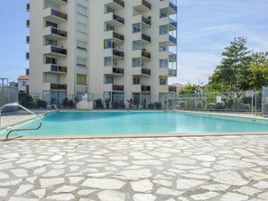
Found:
[[[205,91],[261,89],[268,82],[267,52],[248,50],[245,37],[237,37],[222,52],[220,64],[208,80]]]

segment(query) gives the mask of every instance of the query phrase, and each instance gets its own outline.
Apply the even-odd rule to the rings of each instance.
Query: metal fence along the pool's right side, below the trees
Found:
[[[180,95],[180,110],[252,113],[262,112],[262,93],[257,91],[196,93]]]

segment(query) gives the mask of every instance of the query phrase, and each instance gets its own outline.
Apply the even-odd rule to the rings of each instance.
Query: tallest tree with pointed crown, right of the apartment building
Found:
[[[225,86],[228,91],[245,90],[248,87],[248,67],[251,61],[250,51],[245,46],[245,37],[237,37],[222,52],[220,65],[217,66],[208,85]]]

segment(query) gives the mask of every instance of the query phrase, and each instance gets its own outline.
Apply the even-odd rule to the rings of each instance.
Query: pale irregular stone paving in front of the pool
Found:
[[[0,142],[0,200],[268,200],[268,136]]]

